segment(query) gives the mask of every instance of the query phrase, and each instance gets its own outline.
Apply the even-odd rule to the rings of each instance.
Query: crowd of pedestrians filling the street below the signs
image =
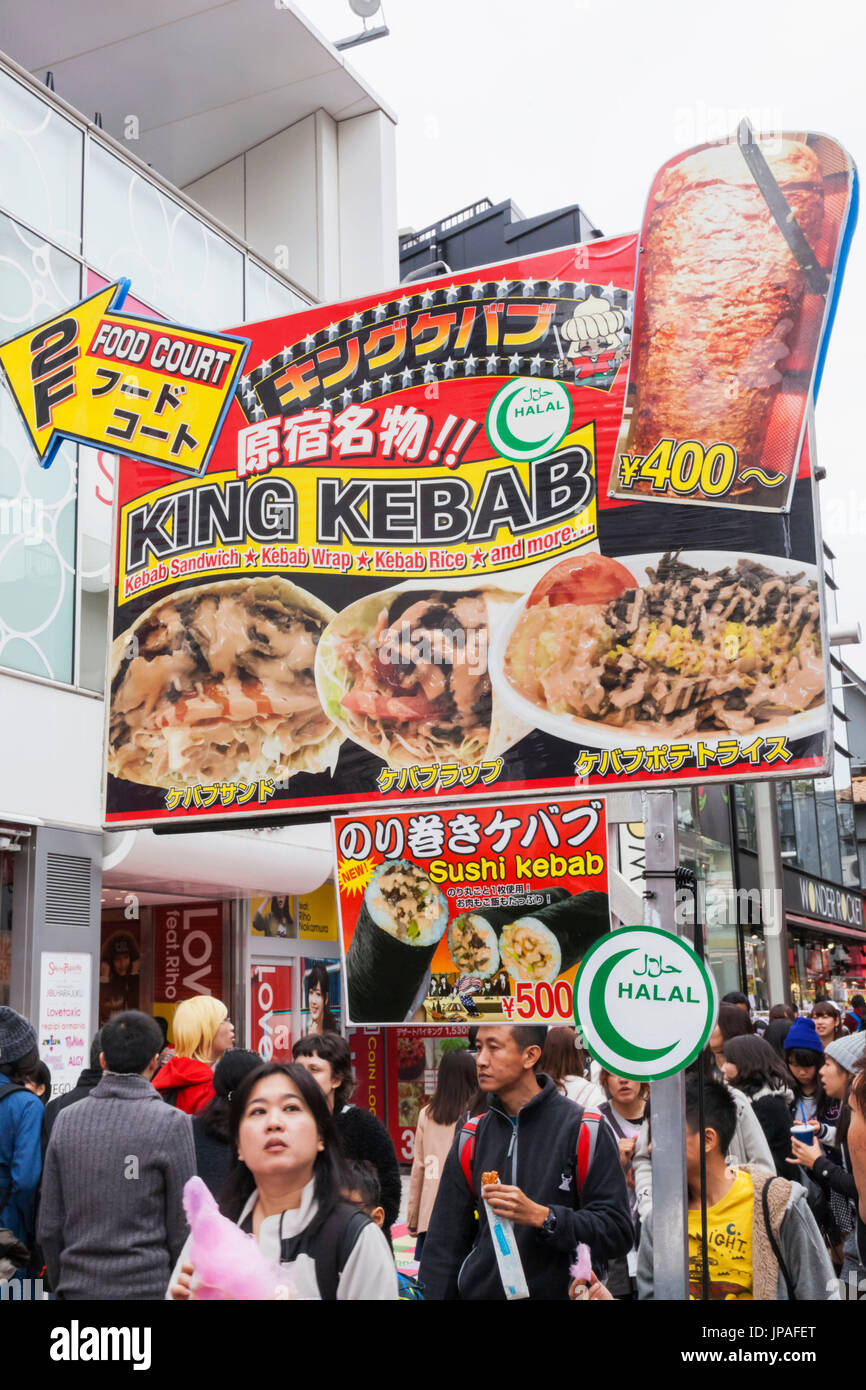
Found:
[[[601,1068],[574,1029],[478,1026],[443,1054],[409,1182],[414,1280],[391,1244],[396,1154],[352,1105],[346,1040],[310,1033],[291,1063],[234,1041],[210,997],[178,1006],[171,1047],[124,1011],[51,1099],[36,1030],[0,1008],[0,1279],[64,1301],[195,1298],[197,1175],[292,1297],[653,1298],[651,1087]],[[685,1129],[692,1298],[866,1295],[860,997],[767,1023],[726,997],[687,1073]]]

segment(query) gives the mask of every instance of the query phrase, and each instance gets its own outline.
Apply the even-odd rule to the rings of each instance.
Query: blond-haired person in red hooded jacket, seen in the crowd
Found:
[[[172,1022],[175,1056],[161,1066],[153,1084],[170,1105],[197,1115],[214,1098],[214,1066],[235,1042],[228,1009],[211,994],[178,1004]]]

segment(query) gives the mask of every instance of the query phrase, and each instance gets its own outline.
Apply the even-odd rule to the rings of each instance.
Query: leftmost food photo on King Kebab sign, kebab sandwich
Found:
[[[147,787],[334,767],[313,677],[334,610],[288,580],[225,580],[149,607],[111,649],[108,771]]]

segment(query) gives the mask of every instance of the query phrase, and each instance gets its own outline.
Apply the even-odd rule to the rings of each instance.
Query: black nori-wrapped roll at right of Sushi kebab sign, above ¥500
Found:
[[[607,894],[588,888],[510,922],[499,938],[502,963],[518,984],[556,980],[610,931]]]

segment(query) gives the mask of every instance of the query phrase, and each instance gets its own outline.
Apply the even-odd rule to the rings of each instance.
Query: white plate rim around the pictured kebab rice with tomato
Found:
[[[651,555],[619,555],[616,559],[631,571],[638,587],[644,587],[649,581],[649,575],[646,573],[648,569],[657,569],[664,553],[666,552],[663,550],[656,550]],[[805,580],[815,580],[819,582],[819,574],[815,564],[801,564],[796,560],[784,559],[783,556],[776,555],[744,555],[742,552],[731,550],[683,550],[681,559],[685,564],[694,564],[698,569],[709,570],[710,573],[723,570],[726,566],[735,569],[737,560],[740,559],[755,560],[758,564],[766,566],[767,570],[773,570],[776,574],[802,573]],[[562,557],[556,563],[562,563]],[[546,734],[555,734],[556,738],[564,738],[567,742],[575,744],[580,748],[652,748],[657,744],[670,742],[670,735],[666,737],[664,730],[662,728],[648,733],[645,730],[619,728],[605,724],[601,720],[578,719],[574,714],[553,714],[550,710],[542,709],[539,705],[534,705],[532,701],[525,699],[518,691],[514,689],[505,674],[505,653],[512,639],[512,632],[523,617],[528,599],[530,595],[525,594],[517,603],[514,603],[512,612],[496,631],[491,644],[491,682],[502,703],[506,705],[518,719],[534,724],[535,728],[541,728]],[[788,719],[780,719],[774,723],[755,724],[755,728],[751,730],[748,735],[737,735],[733,730],[710,730],[703,734],[676,735],[676,739],[680,744],[692,745],[701,739],[708,748],[714,748],[719,739],[735,737],[746,738],[760,735],[762,738],[806,738],[809,734],[819,734],[823,728],[826,728],[826,726],[827,706],[826,701],[823,701],[820,705],[815,705],[812,709],[805,710],[802,714],[791,714]]]

